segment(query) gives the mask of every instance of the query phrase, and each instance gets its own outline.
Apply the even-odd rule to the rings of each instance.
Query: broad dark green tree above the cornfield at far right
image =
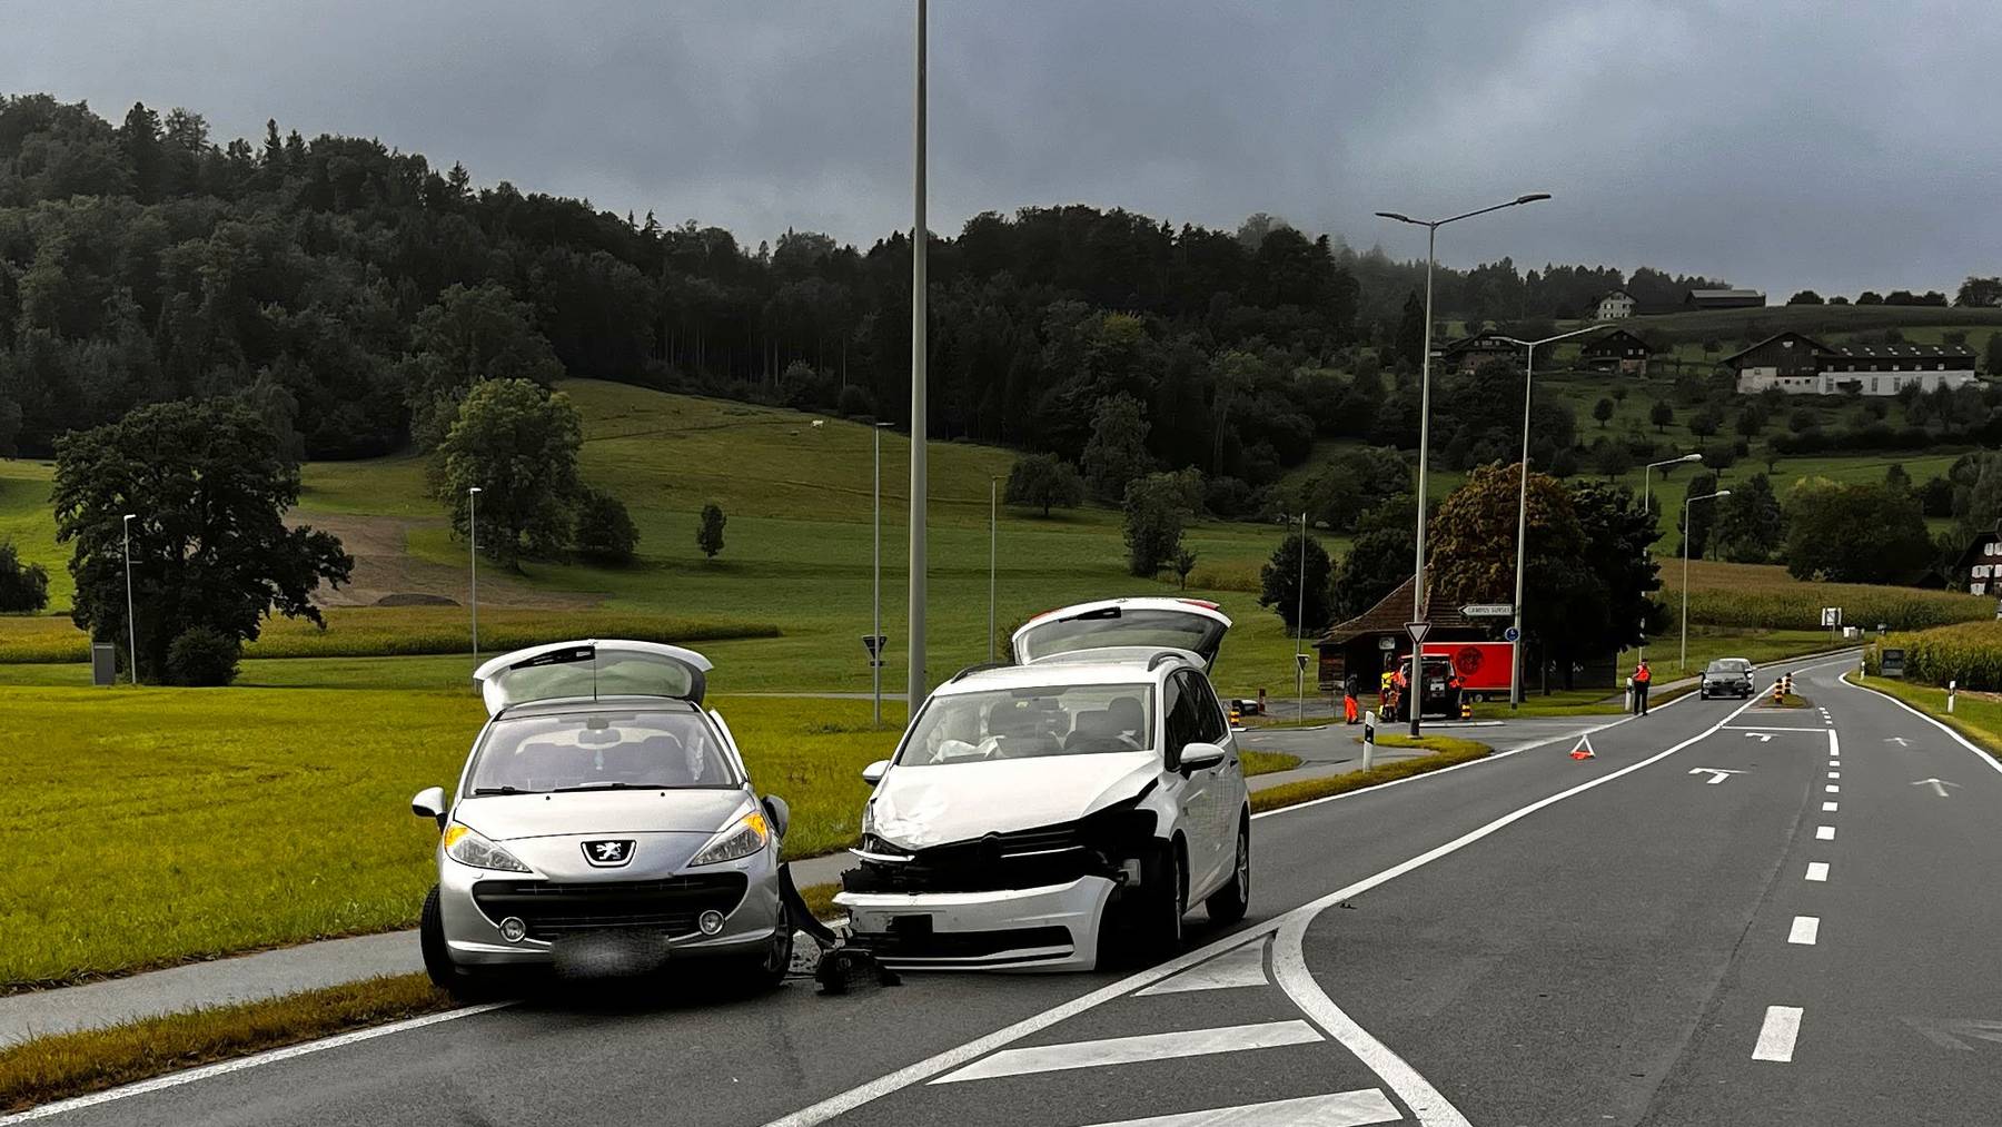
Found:
[[[1784,504],[1782,560],[1794,579],[1914,583],[1932,560],[1926,516],[1910,490],[1804,480]]]

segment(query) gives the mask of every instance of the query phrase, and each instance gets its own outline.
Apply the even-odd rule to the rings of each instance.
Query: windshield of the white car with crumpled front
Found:
[[[899,765],[1153,751],[1153,685],[1059,685],[933,697]]]

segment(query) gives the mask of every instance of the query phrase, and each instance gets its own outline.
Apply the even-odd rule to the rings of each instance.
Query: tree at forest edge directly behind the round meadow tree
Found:
[[[498,282],[454,284],[416,314],[400,376],[410,434],[420,448],[430,448],[472,384],[533,380],[547,386],[563,376],[563,364],[535,328],[535,306],[515,300]]]

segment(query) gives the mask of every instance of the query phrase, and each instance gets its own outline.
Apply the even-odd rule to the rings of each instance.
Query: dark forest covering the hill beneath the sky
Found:
[[[903,422],[909,240],[745,248],[589,200],[474,190],[376,140],[216,144],[198,114],[120,124],[0,98],[0,454],[132,404],[236,394],[316,458],[422,436],[486,374],[605,376]],[[935,238],[933,434],[1077,456],[1131,394],[1169,466],[1261,484],[1317,434],[1401,416],[1421,264],[1283,222],[1239,230],[1087,206]],[[1439,276],[1441,316],[1658,300],[1700,278],[1501,262]],[[1656,292],[1660,290],[1660,292]],[[1377,410],[1385,404],[1385,410]],[[1377,440],[1401,426],[1377,424]]]

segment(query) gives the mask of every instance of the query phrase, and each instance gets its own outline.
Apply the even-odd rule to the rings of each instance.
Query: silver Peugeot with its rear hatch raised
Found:
[[[751,789],[709,661],[633,641],[500,655],[474,683],[488,721],[438,823],[420,945],[430,979],[484,993],[519,969],[643,973],[707,959],[747,985],[785,977],[787,809]]]

